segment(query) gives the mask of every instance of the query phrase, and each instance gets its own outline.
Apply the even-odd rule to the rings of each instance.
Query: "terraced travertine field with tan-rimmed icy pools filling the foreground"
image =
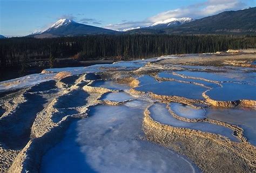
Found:
[[[72,136],[90,170],[138,171],[138,167],[142,172],[153,172],[155,168],[144,170],[143,165],[140,168],[133,162],[129,162],[131,167],[125,167],[125,161],[121,163],[124,167],[120,166],[117,151],[121,149],[118,150],[117,141],[114,143],[114,134],[124,127],[132,135],[118,136],[120,140],[129,138],[129,152],[136,154],[142,150],[136,146],[143,146],[160,153],[156,157],[166,165],[175,162],[173,169],[166,167],[163,172],[254,172],[256,129],[250,124],[256,119],[255,61],[256,50],[229,50],[221,54],[182,54],[111,65],[46,69],[42,74],[0,82],[0,171],[54,172],[52,165],[46,166],[48,162],[50,165],[49,159],[58,160],[51,153],[65,146],[66,137]],[[174,109],[171,103],[180,104]],[[131,120],[137,124],[129,122],[129,110],[134,114]],[[217,110],[224,112],[223,117],[217,116]],[[123,111],[120,119],[118,111]],[[225,111],[244,114],[248,123],[236,122]],[[196,118],[190,118],[192,114]],[[107,116],[113,118],[105,120]],[[98,121],[102,121],[98,131],[81,125],[97,126]],[[115,125],[118,122],[122,123]],[[86,136],[85,132],[97,134],[109,123],[111,128],[104,132],[109,135],[107,139]],[[95,153],[90,155],[93,148],[83,139],[103,149],[101,165],[96,162]],[[104,143],[111,141],[116,148]],[[164,155],[165,150],[173,152],[173,156]],[[104,164],[107,152],[117,154],[111,164]],[[123,155],[128,158],[129,152]],[[145,159],[151,158],[149,152],[143,152]],[[174,156],[182,157],[187,165],[174,161]],[[63,151],[63,157],[69,155]],[[143,157],[136,158],[136,163],[146,164]],[[156,160],[152,163],[158,168]],[[184,165],[184,169],[178,169],[178,165]]]

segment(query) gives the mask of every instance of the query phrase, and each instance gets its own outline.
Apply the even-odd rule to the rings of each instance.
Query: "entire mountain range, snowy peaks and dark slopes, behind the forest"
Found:
[[[84,36],[88,34],[255,34],[256,7],[224,11],[201,19],[170,18],[151,26],[131,28],[125,32],[60,19],[48,29],[30,34],[34,38]]]

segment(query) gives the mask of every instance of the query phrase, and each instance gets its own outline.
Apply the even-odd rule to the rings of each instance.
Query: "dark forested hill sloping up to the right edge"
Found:
[[[256,8],[225,11],[178,26],[147,27],[147,29],[144,27],[129,32],[140,34],[256,34]]]

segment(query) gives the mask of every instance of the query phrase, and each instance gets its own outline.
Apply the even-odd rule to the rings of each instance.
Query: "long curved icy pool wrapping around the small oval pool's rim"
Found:
[[[233,130],[227,127],[223,127],[217,124],[213,124],[210,122],[186,122],[180,121],[174,118],[169,110],[166,108],[164,103],[155,103],[153,106],[149,108],[150,116],[160,122],[173,127],[182,127],[194,130],[200,130],[201,132],[208,132],[213,134],[220,134],[228,137],[230,140],[239,142],[238,139],[233,136]]]

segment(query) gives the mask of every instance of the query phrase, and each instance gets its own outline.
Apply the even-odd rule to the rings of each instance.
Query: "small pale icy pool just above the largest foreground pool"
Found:
[[[102,100],[110,100],[110,101],[125,101],[134,99],[134,97],[126,92],[118,92],[118,93],[106,93],[102,96]]]

